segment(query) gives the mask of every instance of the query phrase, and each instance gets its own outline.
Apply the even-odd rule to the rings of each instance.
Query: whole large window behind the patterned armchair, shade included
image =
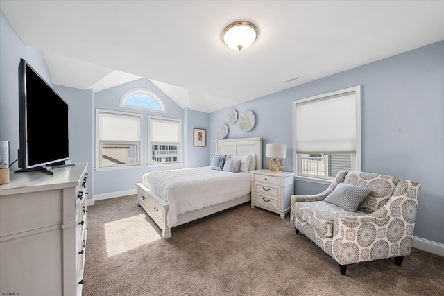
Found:
[[[296,179],[328,184],[341,170],[361,171],[361,88],[293,101]]]

